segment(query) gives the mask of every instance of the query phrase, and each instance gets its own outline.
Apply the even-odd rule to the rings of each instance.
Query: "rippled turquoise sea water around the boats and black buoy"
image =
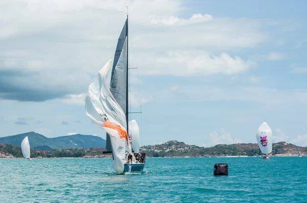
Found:
[[[228,176],[213,176],[227,163]],[[112,159],[0,159],[1,202],[307,202],[307,157],[148,158],[117,175]]]

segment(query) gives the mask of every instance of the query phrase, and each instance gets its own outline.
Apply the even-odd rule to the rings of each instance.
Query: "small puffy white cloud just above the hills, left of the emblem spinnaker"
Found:
[[[236,144],[242,143],[241,140],[236,137],[232,137],[229,133],[226,133],[224,129],[221,131],[221,136],[218,135],[215,131],[210,133],[210,143],[203,144],[202,146],[215,146],[217,144]]]

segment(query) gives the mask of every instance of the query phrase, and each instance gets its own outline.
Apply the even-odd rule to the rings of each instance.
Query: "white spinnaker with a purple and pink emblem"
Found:
[[[272,130],[268,123],[262,123],[256,134],[257,143],[263,154],[270,154],[272,152]]]

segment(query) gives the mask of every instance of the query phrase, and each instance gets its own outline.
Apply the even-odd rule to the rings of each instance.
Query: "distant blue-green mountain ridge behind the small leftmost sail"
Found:
[[[47,138],[35,132],[28,132],[19,135],[0,137],[0,143],[20,146],[21,141],[28,136],[31,148],[39,149],[66,149],[66,148],[91,148],[105,147],[105,140],[93,135],[69,135],[55,138]]]

